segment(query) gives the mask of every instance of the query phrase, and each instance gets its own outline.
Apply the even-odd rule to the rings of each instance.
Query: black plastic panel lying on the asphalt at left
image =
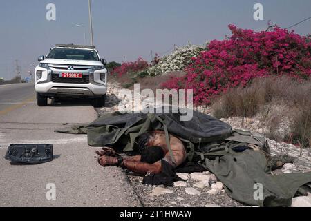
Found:
[[[24,164],[42,164],[53,160],[53,144],[11,144],[6,160]]]

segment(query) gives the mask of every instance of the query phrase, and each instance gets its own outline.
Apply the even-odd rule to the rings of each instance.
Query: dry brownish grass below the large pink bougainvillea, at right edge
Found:
[[[276,137],[277,128],[287,117],[290,128],[286,141],[311,146],[311,80],[299,82],[288,77],[256,79],[247,88],[229,90],[214,100],[212,108],[218,118],[254,117],[269,105],[286,107],[285,111],[273,113],[269,137]]]

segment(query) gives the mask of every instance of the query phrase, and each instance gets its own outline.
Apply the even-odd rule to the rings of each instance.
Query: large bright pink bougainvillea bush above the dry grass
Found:
[[[207,50],[192,58],[185,77],[171,78],[162,87],[193,89],[195,104],[209,104],[211,97],[229,88],[246,86],[257,77],[310,77],[310,37],[278,27],[270,32],[233,25],[229,29],[232,37],[211,41]]]

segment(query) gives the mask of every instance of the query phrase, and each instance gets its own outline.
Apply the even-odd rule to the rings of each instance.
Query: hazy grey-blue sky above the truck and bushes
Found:
[[[56,20],[46,19],[46,5]],[[254,4],[263,5],[263,21],[254,20]],[[174,45],[205,44],[230,35],[228,25],[265,30],[269,20],[287,28],[311,16],[311,0],[92,0],[94,44],[107,61],[151,60]],[[82,24],[84,27],[77,27]],[[90,44],[88,0],[0,1],[0,77],[34,72],[37,57],[55,44]],[[311,19],[291,28],[311,33]]]

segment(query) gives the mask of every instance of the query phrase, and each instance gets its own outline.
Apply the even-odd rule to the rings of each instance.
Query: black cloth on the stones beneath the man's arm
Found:
[[[161,160],[162,172],[158,174],[151,173],[142,180],[143,184],[173,186],[174,182],[184,181],[173,171],[173,166]]]

